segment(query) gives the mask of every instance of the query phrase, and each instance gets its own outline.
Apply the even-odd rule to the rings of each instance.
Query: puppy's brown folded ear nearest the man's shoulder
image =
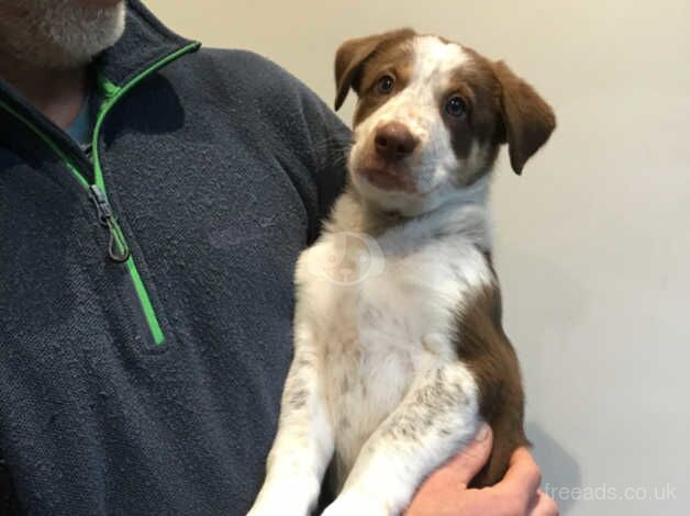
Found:
[[[407,40],[415,34],[412,29],[399,29],[343,43],[335,53],[335,110],[337,111],[343,105],[350,88],[359,92],[361,67],[383,43]]]

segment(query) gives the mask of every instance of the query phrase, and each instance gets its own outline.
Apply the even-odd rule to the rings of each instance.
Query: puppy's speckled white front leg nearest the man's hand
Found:
[[[398,516],[424,478],[471,440],[477,405],[461,363],[427,370],[367,440],[323,516]]]

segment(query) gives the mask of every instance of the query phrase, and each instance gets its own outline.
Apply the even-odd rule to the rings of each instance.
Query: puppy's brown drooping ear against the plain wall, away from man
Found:
[[[546,143],[556,127],[556,115],[505,63],[496,63],[493,69],[501,83],[501,114],[510,162],[520,175],[527,159]]]

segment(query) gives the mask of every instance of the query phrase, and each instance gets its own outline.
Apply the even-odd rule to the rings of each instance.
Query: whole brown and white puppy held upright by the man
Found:
[[[501,144],[520,173],[552,109],[503,63],[409,29],[346,42],[335,68],[336,109],[359,96],[349,184],[298,263],[294,359],[252,516],[309,514],[331,460],[325,515],[397,515],[482,420],[494,448],[476,485],[527,442],[487,197]]]

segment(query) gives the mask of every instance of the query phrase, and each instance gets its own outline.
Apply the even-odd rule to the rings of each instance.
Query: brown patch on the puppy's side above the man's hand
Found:
[[[490,263],[490,256],[489,256]],[[479,386],[479,414],[493,430],[493,449],[472,487],[499,482],[516,448],[528,446],[524,428],[524,393],[515,350],[501,324],[498,287],[477,292],[458,314],[457,354]]]

